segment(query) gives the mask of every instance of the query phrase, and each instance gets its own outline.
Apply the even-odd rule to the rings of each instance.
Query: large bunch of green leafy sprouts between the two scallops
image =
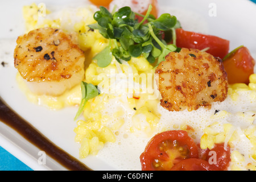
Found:
[[[99,30],[105,38],[113,42],[113,46],[106,47],[94,57],[100,67],[110,64],[112,56],[122,63],[121,60],[129,61],[131,57],[144,56],[149,63],[157,64],[176,47],[176,28],[180,28],[180,22],[175,16],[162,14],[155,18],[150,14],[152,6],[148,7],[146,15],[134,13],[130,7],[125,6],[118,11],[110,13],[105,7],[94,14],[95,24],[89,27]],[[142,16],[143,20],[138,22],[135,15]],[[168,34],[166,39],[162,34]],[[170,43],[172,40],[172,44]],[[110,59],[111,57],[111,59]]]

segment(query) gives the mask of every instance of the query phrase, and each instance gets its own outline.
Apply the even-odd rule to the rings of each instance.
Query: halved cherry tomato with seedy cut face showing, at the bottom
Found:
[[[143,171],[167,171],[187,158],[198,158],[198,149],[187,131],[183,130],[156,134],[140,156]]]

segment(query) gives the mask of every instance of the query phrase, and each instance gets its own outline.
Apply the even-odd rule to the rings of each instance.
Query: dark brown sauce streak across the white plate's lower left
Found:
[[[59,164],[70,171],[91,171],[91,169],[85,166],[85,164],[81,163],[79,160],[57,147],[27,121],[24,121],[23,118],[21,118],[5,104],[1,97],[0,122],[3,122],[13,128],[26,140],[40,148],[40,150],[45,151],[47,155],[51,156],[52,159],[55,159]]]

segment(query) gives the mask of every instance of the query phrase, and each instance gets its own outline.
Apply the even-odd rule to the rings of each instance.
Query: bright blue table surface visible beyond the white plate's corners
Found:
[[[256,3],[256,0],[251,0]],[[0,146],[0,171],[32,171],[32,169]]]

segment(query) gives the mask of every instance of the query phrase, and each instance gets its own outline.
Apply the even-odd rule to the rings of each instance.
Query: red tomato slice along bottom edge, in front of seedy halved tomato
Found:
[[[206,160],[190,158],[175,164],[171,171],[219,171],[219,169],[210,165]]]

